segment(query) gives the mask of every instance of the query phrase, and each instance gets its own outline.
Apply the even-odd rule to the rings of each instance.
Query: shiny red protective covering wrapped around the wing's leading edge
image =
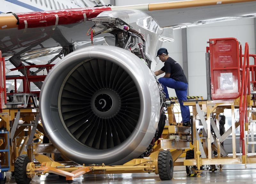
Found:
[[[73,24],[84,21],[84,13],[86,19],[95,18],[102,11],[110,11],[110,7],[95,7],[95,8],[77,8],[57,11],[35,11],[29,13],[17,13],[19,17],[19,29],[25,28],[24,21],[28,23],[28,28],[46,27],[55,25],[56,15],[58,15],[58,25]]]

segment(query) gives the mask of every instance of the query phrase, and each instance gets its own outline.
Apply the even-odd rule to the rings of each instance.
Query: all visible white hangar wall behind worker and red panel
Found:
[[[170,1],[170,0],[168,0]],[[105,0],[105,3],[115,3],[116,6],[167,2],[167,0]],[[187,29],[187,55],[188,55],[188,95],[203,96],[207,98],[206,89],[206,69],[205,69],[205,47],[208,46],[207,40],[211,38],[235,37],[239,39],[244,47],[245,42],[249,43],[250,53],[255,52],[255,32],[254,18],[237,19],[231,21],[222,21],[211,24],[197,25]],[[181,29],[174,30],[174,42],[164,43],[170,57],[183,66],[182,53],[182,33]],[[186,62],[184,63],[187,64]],[[163,67],[163,63],[159,61],[156,70]],[[163,76],[160,75],[159,77]],[[169,96],[176,96],[173,89],[168,88]]]

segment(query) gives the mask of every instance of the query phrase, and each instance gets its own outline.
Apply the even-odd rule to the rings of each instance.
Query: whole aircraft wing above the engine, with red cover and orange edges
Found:
[[[217,20],[254,17],[256,1],[190,0],[131,6],[94,7],[0,15],[0,50],[3,56],[30,50],[88,42],[89,20],[105,11],[138,10],[152,16],[160,27],[180,27]],[[138,19],[141,17],[138,17]],[[136,22],[136,20],[135,20]]]

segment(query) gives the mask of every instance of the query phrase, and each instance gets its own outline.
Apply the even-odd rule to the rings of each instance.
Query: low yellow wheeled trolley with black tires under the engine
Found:
[[[45,173],[55,173],[66,177],[68,183],[82,174],[108,174],[108,173],[156,173],[161,180],[171,180],[173,176],[173,166],[182,166],[183,161],[176,160],[183,153],[184,149],[189,149],[191,141],[191,128],[183,127],[181,124],[173,122],[173,104],[169,104],[168,115],[169,124],[166,123],[163,131],[163,138],[159,138],[149,157],[132,159],[124,165],[109,166],[102,165],[77,165],[74,162],[62,158],[61,161],[54,161],[54,153],[59,153],[52,144],[31,144],[28,145],[28,156],[19,156],[15,162],[15,168],[20,168],[16,177],[26,175],[18,181],[29,183],[36,175]],[[174,118],[174,117],[173,117]],[[52,153],[48,157],[43,153]],[[30,158],[30,156],[32,156]],[[38,162],[30,162],[30,160]],[[67,161],[65,161],[67,160]],[[23,169],[21,169],[23,168]],[[17,179],[16,179],[17,181]]]

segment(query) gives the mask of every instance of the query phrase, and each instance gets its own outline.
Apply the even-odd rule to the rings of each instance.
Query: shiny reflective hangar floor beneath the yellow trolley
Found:
[[[244,165],[226,165],[223,170],[219,169],[215,172],[204,171],[201,174],[201,178],[187,177],[184,166],[174,167],[173,179],[171,181],[161,181],[158,175],[151,173],[135,173],[135,174],[101,174],[101,175],[84,175],[76,178],[74,184],[159,184],[159,183],[256,183],[256,164],[247,165],[247,169],[244,169]],[[11,177],[11,173],[7,173],[6,183],[15,184],[14,177]],[[62,184],[67,183],[65,179],[60,180],[59,176],[54,174],[47,174],[42,177],[35,177],[31,184]]]

